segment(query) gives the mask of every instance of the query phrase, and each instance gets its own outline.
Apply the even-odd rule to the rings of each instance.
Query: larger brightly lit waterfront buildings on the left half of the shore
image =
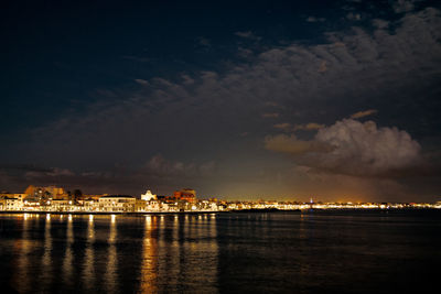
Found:
[[[200,200],[194,189],[158,196],[147,190],[140,197],[130,195],[85,195],[56,186],[29,186],[22,194],[0,193],[0,210],[9,211],[88,211],[88,213],[165,213],[218,211],[216,200]]]

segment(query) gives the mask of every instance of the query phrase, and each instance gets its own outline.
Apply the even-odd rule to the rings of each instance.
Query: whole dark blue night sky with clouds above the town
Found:
[[[0,189],[441,200],[439,1],[8,2]]]

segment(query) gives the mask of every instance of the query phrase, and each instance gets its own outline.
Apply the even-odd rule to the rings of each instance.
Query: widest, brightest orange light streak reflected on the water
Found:
[[[142,240],[142,263],[141,263],[141,293],[157,293],[158,292],[158,242],[153,238],[153,231],[157,230],[150,216],[146,217],[144,237]]]

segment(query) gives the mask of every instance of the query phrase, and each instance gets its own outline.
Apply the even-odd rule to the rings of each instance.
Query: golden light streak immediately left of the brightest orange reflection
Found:
[[[111,215],[110,217],[110,232],[109,238],[107,240],[109,244],[108,251],[108,261],[106,265],[106,274],[105,274],[105,283],[106,283],[106,292],[107,293],[115,293],[118,290],[118,279],[117,279],[117,271],[118,271],[118,255],[117,255],[117,222],[116,216]]]

